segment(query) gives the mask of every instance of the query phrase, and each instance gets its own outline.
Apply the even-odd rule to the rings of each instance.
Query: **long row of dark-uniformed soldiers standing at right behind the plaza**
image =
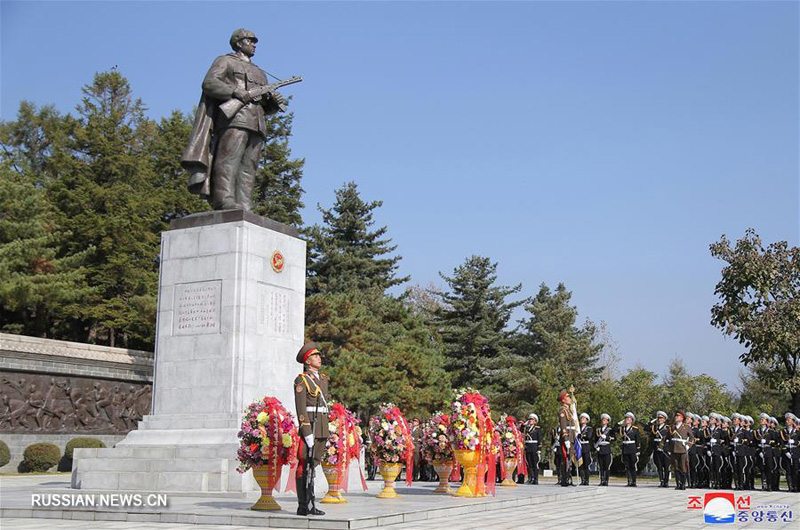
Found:
[[[569,436],[568,406],[562,406],[559,415],[559,425],[551,431],[551,441],[558,483],[569,485],[572,480],[572,451],[570,444],[565,442],[573,438]],[[730,419],[717,413],[701,417],[691,412],[677,412],[674,421],[668,423],[667,413],[658,411],[656,418],[648,425],[647,433],[653,441],[653,460],[658,470],[659,487],[669,487],[670,475],[674,472],[676,489],[753,489],[758,475],[762,489],[775,491],[783,472],[789,491],[799,491],[800,421],[792,413],[786,413],[785,418],[786,427],[781,429],[775,418],[762,413],[759,416],[760,426],[753,429],[753,418],[738,413]],[[531,415],[523,426],[528,468],[532,473],[536,472],[541,456],[538,420],[538,416]],[[580,415],[580,430],[573,442],[580,444],[583,457],[583,464],[578,468],[580,484],[589,484],[589,466],[594,448],[600,485],[608,485],[611,443],[616,440],[621,444],[627,485],[635,487],[642,431],[635,425],[636,417],[632,412],[625,414],[617,429],[611,428],[610,420],[608,414],[602,414],[601,426],[592,429],[589,415]],[[538,483],[538,476],[532,477],[529,477],[528,483]]]

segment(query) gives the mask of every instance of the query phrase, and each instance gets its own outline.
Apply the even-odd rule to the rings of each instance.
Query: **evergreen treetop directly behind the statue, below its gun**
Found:
[[[293,119],[293,113],[273,114],[267,118],[267,143],[256,174],[253,212],[299,228],[303,224],[300,181],[305,159],[291,158],[289,137]]]

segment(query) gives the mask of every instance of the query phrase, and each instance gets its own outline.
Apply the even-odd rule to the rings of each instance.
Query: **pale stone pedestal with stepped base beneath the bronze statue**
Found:
[[[236,472],[236,434],[265,395],[294,412],[305,264],[295,229],[249,212],[173,221],[161,239],[152,414],[113,449],[76,450],[72,487],[257,489]]]

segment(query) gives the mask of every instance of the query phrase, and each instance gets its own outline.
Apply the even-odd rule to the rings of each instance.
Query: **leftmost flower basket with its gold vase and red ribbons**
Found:
[[[261,497],[250,509],[280,510],[272,491],[280,483],[283,466],[297,465],[300,438],[294,417],[276,398],[264,397],[247,407],[238,436],[237,471],[252,468],[261,488]]]

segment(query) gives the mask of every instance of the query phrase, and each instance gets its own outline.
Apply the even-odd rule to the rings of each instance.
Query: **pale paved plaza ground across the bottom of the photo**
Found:
[[[369,528],[386,526],[402,530],[452,529],[620,529],[620,528],[716,528],[705,525],[703,510],[687,508],[690,496],[702,497],[704,490],[675,491],[641,482],[636,489],[612,482],[608,488],[560,488],[545,481],[538,486],[498,488],[497,497],[458,499],[431,494],[432,484],[398,488],[402,499],[374,498],[378,482],[371,482],[369,494],[351,493],[343,505],[323,505],[327,515],[300,518],[292,515],[295,504],[291,495],[276,498],[284,511],[277,514],[252,512],[247,500],[170,496],[167,508],[94,510],[31,509],[33,493],[76,493],[67,490],[60,477],[0,478],[0,516],[2,528],[42,528],[85,530],[193,529],[224,527],[225,530],[272,528]],[[374,491],[373,491],[374,490]],[[791,522],[750,520],[725,525],[728,528],[798,528],[800,495],[788,492],[748,492],[751,510],[759,505],[788,505]],[[737,495],[738,496],[738,495]],[[291,510],[291,511],[290,511]],[[124,516],[124,519],[123,519]],[[42,517],[48,517],[45,522]],[[57,517],[52,519],[49,517]],[[117,518],[118,520],[108,520]],[[80,518],[81,520],[75,520]],[[91,522],[88,522],[88,521]],[[43,524],[44,523],[44,524]],[[191,523],[191,524],[185,524]],[[203,526],[198,526],[203,524]]]

